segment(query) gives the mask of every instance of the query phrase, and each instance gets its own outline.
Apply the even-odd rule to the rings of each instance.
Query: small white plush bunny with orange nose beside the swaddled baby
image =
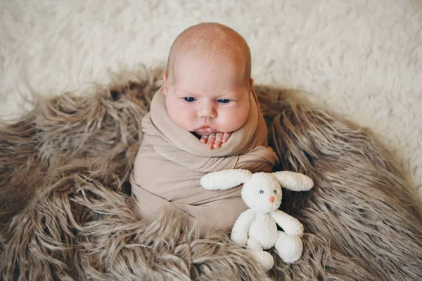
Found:
[[[296,218],[279,210],[281,187],[294,191],[310,190],[314,186],[311,178],[291,171],[252,174],[248,170],[229,169],[206,174],[200,183],[207,190],[225,190],[243,183],[242,199],[250,209],[238,217],[231,231],[231,240],[246,245],[264,270],[274,266],[274,259],[264,249],[275,247],[285,263],[300,259],[303,226]],[[283,231],[277,230],[276,224]]]

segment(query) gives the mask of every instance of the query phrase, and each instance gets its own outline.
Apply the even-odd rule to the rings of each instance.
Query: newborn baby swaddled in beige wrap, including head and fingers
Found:
[[[142,121],[131,177],[140,216],[152,220],[170,209],[204,234],[231,230],[248,209],[241,187],[205,190],[200,178],[222,169],[271,171],[279,161],[250,72],[248,44],[229,27],[202,23],[179,34]]]

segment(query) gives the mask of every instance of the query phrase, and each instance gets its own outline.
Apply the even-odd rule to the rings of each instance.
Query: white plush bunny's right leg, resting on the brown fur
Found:
[[[279,231],[279,237],[277,237],[274,247],[285,263],[298,261],[303,252],[302,239],[297,235],[287,235],[283,231]]]

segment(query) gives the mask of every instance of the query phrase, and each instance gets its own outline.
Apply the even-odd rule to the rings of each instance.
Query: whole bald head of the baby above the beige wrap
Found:
[[[170,119],[197,136],[240,129],[248,119],[250,69],[248,44],[231,28],[201,23],[184,30],[163,74]]]

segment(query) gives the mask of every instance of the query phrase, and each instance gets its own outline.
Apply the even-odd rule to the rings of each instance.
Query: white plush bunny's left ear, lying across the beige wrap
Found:
[[[243,169],[213,171],[200,178],[200,185],[207,190],[225,190],[245,183],[252,173]]]

